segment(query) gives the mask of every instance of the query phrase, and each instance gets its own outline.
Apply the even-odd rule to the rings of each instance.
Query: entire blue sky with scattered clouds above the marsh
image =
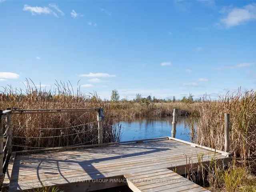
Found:
[[[256,88],[256,1],[0,0],[0,86],[110,98]]]

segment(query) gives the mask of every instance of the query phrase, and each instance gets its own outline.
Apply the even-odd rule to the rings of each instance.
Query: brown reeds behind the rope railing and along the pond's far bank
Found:
[[[31,79],[24,82],[25,89],[14,89],[12,86],[3,88],[0,94],[0,109],[17,107],[18,109],[49,109],[49,108],[103,108],[104,132],[103,142],[121,140],[121,127],[116,127],[116,118],[134,118],[141,116],[164,117],[172,116],[174,108],[178,108],[180,115],[188,116],[197,113],[198,104],[169,102],[169,103],[136,103],[110,102],[102,100],[96,92],[83,94],[78,88],[74,90],[70,82],[55,82],[54,88],[44,90],[36,86]],[[64,128],[96,121],[96,113],[61,113],[61,114],[16,114],[12,115],[13,136],[19,137],[48,137],[60,136],[60,130],[44,130],[37,128]],[[65,129],[64,135],[79,133],[61,138],[14,138],[14,150],[28,150],[33,148],[48,148],[58,146],[73,146],[97,143],[97,123]],[[91,130],[91,131],[90,131]],[[21,147],[18,147],[21,146]]]

